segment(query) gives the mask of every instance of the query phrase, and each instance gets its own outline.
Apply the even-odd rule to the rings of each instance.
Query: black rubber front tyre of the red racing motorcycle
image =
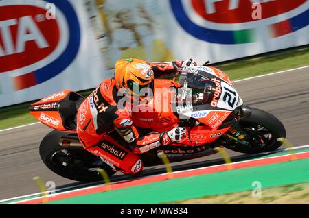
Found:
[[[253,136],[255,138],[261,137],[261,139],[264,141],[266,145],[262,146],[261,143],[261,146],[252,146],[253,143],[251,143],[251,146],[246,146],[242,145],[241,143],[236,143],[233,140],[224,145],[228,149],[231,149],[235,152],[245,154],[258,154],[262,152],[271,152],[282,145],[281,142],[277,141],[277,138],[286,138],[286,130],[282,122],[279,121],[277,117],[273,116],[273,114],[270,114],[268,112],[265,112],[264,110],[260,110],[257,108],[251,108],[251,114],[248,117],[241,119],[239,121],[239,125],[243,132],[246,132],[247,134],[251,135],[256,135],[256,137]],[[269,134],[271,135],[271,138],[266,140],[266,138],[264,139],[262,134],[258,132],[258,130],[251,130],[252,128],[250,129],[251,126],[253,127],[258,125],[264,127],[264,132],[268,130]],[[227,134],[231,135],[230,132],[227,132]]]

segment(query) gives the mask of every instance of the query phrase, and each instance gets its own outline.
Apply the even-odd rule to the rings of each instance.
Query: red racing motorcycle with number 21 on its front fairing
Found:
[[[170,162],[179,162],[215,154],[215,147],[258,154],[282,145],[277,141],[286,137],[281,121],[268,112],[245,106],[224,72],[207,63],[185,66],[177,72],[178,82],[155,80],[155,90],[161,90],[162,95],[169,90],[170,100],[163,104],[165,110],[132,112],[132,119],[141,134],[163,132],[179,125],[187,129],[187,137],[139,154],[145,167],[161,165],[161,152]],[[166,99],[162,95],[153,97],[152,106],[162,104],[162,99]],[[84,150],[78,140],[76,114],[83,101],[78,93],[64,90],[41,99],[29,109],[38,121],[54,129],[41,141],[40,156],[45,165],[62,177],[93,182],[101,180],[97,169],[104,169],[110,176],[115,171]],[[112,144],[129,148],[115,130],[107,133],[105,139],[108,138]]]

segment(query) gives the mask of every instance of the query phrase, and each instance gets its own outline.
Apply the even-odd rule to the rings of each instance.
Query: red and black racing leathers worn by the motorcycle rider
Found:
[[[180,61],[175,63],[179,66],[182,64]],[[149,64],[155,77],[175,71],[172,63]],[[115,80],[106,79],[84,100],[78,109],[77,134],[84,149],[100,156],[102,161],[115,170],[135,174],[143,168],[143,163],[137,154],[160,145],[167,145],[170,143],[170,138],[166,133],[140,136],[130,119],[130,110],[118,109],[117,103],[122,97],[119,97],[117,92]],[[133,152],[106,134],[114,129],[126,142],[134,144]]]

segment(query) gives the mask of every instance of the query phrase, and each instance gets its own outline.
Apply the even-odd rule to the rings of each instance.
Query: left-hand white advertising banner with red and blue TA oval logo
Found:
[[[0,106],[98,86],[102,69],[83,1],[0,1]]]

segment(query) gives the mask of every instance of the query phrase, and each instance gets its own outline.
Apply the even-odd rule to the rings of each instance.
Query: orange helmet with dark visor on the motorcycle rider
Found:
[[[117,60],[115,64],[115,82],[117,88],[128,88],[130,94],[139,95],[142,88],[151,88],[155,75],[148,62],[137,58]]]

